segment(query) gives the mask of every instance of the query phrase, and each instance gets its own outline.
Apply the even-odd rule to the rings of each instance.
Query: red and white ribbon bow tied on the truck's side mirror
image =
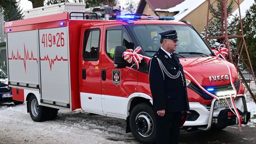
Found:
[[[141,63],[141,60],[145,59],[147,63],[150,60],[149,57],[138,54],[141,50],[142,48],[138,46],[135,50],[128,49],[123,53],[124,60],[126,60],[130,64],[134,62],[137,66],[137,70],[139,68],[139,63]]]

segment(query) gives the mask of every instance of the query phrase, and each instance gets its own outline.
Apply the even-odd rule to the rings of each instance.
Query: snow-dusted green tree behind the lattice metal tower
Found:
[[[221,20],[221,1],[217,0],[217,8],[215,8],[213,5],[210,5],[210,13],[215,16],[211,19],[211,21],[208,24],[208,36],[221,36],[221,26],[222,20]],[[233,4],[234,1],[230,0],[229,4],[227,5],[227,14],[228,16],[231,14],[233,10]],[[237,16],[232,17],[228,20],[228,35],[236,35],[237,31],[237,25],[238,25],[239,19]],[[225,26],[224,26],[225,29]],[[206,31],[206,27],[204,27],[204,30]],[[224,30],[225,32],[225,30]],[[201,36],[205,38],[205,32],[201,32]],[[219,44],[221,44],[221,39],[207,39],[207,41],[210,44],[211,48],[217,48]],[[236,48],[236,40],[229,39],[230,46],[235,49]]]

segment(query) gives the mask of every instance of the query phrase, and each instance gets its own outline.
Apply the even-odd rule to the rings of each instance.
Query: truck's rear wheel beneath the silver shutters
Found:
[[[46,120],[46,107],[38,105],[35,96],[30,97],[28,105],[29,114],[33,121],[42,122]]]

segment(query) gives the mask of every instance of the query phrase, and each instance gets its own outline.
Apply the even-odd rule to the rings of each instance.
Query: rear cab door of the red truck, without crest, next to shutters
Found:
[[[80,50],[79,81],[81,107],[85,111],[103,113],[101,107],[101,56],[103,26],[83,27]]]

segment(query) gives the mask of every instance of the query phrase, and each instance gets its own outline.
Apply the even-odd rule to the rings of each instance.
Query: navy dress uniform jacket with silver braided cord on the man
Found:
[[[181,75],[176,79],[168,77],[157,58],[170,74],[176,75],[181,71]],[[185,75],[176,54],[173,53],[171,58],[159,48],[149,62],[149,82],[155,111],[165,109],[166,112],[181,112],[189,109]]]

